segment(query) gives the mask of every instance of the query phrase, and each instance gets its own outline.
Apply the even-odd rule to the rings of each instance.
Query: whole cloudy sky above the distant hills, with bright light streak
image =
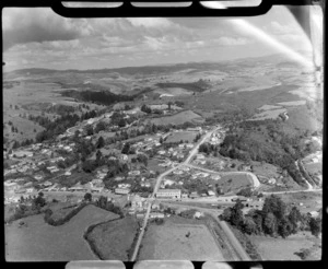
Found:
[[[3,71],[222,61],[281,52],[257,30],[292,50],[312,49],[293,15],[279,5],[265,15],[237,20],[67,19],[50,8],[4,8]]]

